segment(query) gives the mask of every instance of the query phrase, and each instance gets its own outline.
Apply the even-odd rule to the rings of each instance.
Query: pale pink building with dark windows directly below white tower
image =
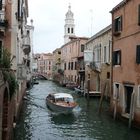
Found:
[[[77,84],[80,69],[80,67],[77,69],[78,58],[83,57],[83,46],[87,40],[86,37],[71,37],[71,41],[61,47],[61,68],[64,70],[64,83]]]

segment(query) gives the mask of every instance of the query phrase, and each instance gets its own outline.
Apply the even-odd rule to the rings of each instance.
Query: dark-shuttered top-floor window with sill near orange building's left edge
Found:
[[[114,20],[114,32],[116,33],[120,31],[122,31],[122,16]]]

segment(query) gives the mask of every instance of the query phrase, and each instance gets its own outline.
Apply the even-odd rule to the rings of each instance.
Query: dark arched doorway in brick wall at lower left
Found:
[[[2,112],[2,140],[6,140],[8,131],[8,89],[6,88],[3,96]]]

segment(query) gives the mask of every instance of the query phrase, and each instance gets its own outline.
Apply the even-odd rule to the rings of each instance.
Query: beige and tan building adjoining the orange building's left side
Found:
[[[86,84],[90,77],[90,91],[110,94],[111,25],[93,35],[85,44]],[[86,87],[87,88],[87,87]]]

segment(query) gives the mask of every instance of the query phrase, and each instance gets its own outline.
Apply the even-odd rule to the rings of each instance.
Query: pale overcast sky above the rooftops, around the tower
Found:
[[[34,53],[52,53],[64,45],[65,14],[69,4],[74,13],[75,35],[91,37],[111,24],[110,11],[121,1],[28,0],[28,22],[33,19],[34,26]]]

